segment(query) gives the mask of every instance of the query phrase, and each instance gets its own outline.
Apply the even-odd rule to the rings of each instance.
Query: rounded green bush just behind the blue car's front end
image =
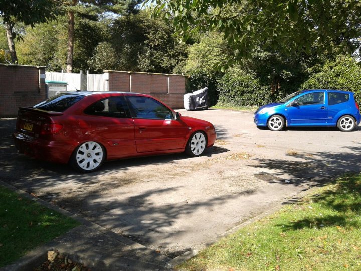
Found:
[[[260,84],[254,73],[230,68],[217,85],[219,102],[229,106],[262,105],[273,101],[268,86]]]

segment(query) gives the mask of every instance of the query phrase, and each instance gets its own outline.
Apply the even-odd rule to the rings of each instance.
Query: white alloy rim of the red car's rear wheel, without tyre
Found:
[[[82,170],[90,171],[100,166],[103,156],[103,149],[99,143],[87,141],[78,148],[76,162]]]

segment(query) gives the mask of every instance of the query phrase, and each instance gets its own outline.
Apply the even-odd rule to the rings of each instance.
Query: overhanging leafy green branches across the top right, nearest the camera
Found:
[[[360,46],[359,14],[359,0],[155,0],[153,7],[154,16],[174,17],[177,33],[186,39],[197,32],[222,32],[235,52],[228,64],[257,47],[286,54],[353,52]]]

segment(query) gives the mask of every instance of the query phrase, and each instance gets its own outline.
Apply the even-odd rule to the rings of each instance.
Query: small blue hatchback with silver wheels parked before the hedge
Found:
[[[361,121],[353,92],[303,90],[279,102],[261,106],[254,114],[257,127],[280,131],[287,127],[338,127],[352,131]]]

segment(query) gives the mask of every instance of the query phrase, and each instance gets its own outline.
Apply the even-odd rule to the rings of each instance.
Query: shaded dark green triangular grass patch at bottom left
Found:
[[[0,186],[0,267],[79,223]]]

